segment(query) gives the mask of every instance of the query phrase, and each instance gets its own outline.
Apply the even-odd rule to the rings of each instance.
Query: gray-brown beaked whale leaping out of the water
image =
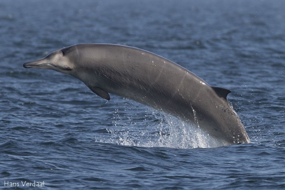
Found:
[[[250,142],[227,102],[231,91],[212,87],[154,53],[124,45],[77,44],[23,66],[69,74],[107,100],[111,93],[162,110],[200,127],[224,145]]]

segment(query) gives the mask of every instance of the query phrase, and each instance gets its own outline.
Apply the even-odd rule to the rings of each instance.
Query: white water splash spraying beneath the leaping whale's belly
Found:
[[[225,145],[197,126],[164,112],[143,108],[115,110],[113,127],[107,129],[108,133],[99,142],[169,148],[213,148]]]

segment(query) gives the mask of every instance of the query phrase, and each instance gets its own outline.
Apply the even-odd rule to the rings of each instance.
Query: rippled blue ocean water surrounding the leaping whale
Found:
[[[284,9],[283,0],[1,0],[0,189],[285,189]],[[219,146],[172,116],[22,66],[91,42],[151,51],[230,89],[252,143]]]

